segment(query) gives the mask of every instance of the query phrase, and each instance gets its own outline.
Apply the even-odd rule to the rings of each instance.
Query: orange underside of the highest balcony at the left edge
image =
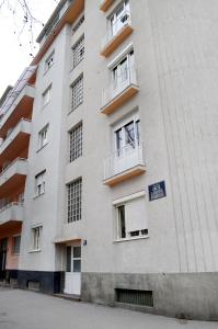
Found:
[[[32,117],[33,101],[34,99],[28,95],[24,95],[22,98],[22,100],[11,113],[7,122],[0,127],[0,137],[5,137],[7,132],[11,127],[14,127],[22,117],[28,120]]]

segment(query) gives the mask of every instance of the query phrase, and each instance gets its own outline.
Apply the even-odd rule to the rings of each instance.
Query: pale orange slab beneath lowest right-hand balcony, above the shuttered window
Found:
[[[119,184],[126,180],[134,178],[134,177],[140,175],[145,172],[146,172],[146,167],[138,164],[134,168],[125,170],[118,174],[115,174],[115,175],[104,180],[104,184],[108,185],[108,186],[114,186],[114,185]]]

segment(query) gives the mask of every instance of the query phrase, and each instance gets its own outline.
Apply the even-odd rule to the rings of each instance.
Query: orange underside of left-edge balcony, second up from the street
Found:
[[[10,179],[5,180],[0,186],[0,198],[10,196],[12,191],[16,191],[24,186],[26,175],[24,174],[13,174]]]

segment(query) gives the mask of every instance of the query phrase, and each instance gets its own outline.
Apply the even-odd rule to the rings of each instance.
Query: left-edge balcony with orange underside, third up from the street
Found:
[[[5,160],[15,159],[26,149],[31,136],[31,121],[22,118],[0,146],[0,166]]]

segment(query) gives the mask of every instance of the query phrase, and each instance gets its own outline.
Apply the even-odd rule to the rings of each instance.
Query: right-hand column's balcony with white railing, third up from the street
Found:
[[[113,25],[110,26],[102,42],[101,55],[108,57],[134,31],[130,13],[124,11]]]

